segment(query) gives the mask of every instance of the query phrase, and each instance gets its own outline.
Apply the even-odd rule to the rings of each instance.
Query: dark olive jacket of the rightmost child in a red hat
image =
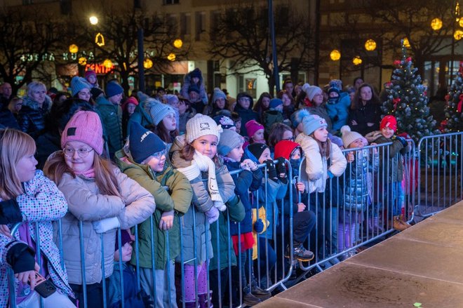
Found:
[[[365,135],[368,142],[375,142],[378,145],[381,143],[392,142],[392,145],[389,145],[389,149],[380,149],[380,156],[383,155],[389,157],[382,157],[380,164],[380,178],[382,175],[387,179],[388,182],[401,182],[403,180],[403,175],[405,173],[405,167],[403,166],[403,155],[410,151],[410,147],[407,145],[403,147],[402,142],[393,138],[386,138],[382,135],[380,130],[373,131]],[[394,140],[393,140],[394,139]]]

